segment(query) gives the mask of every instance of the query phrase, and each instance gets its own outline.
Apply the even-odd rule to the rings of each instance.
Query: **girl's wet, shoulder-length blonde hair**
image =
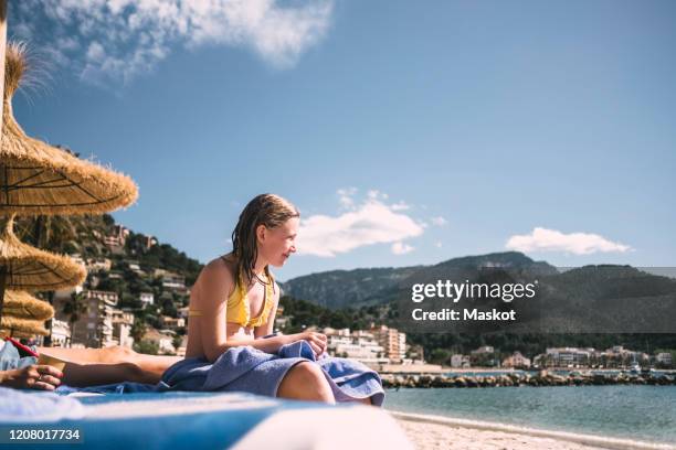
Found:
[[[254,265],[258,257],[256,228],[276,228],[293,217],[299,217],[298,208],[288,200],[275,194],[261,194],[253,197],[240,214],[237,225],[232,232],[232,254],[236,259],[236,274],[253,280]],[[265,266],[265,272],[267,271]],[[239,282],[239,280],[237,280]]]

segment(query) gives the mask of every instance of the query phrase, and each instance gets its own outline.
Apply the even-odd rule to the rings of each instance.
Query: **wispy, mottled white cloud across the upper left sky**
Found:
[[[334,0],[22,0],[9,23],[56,64],[107,84],[151,71],[176,44],[251,49],[291,67],[326,34],[332,9]]]

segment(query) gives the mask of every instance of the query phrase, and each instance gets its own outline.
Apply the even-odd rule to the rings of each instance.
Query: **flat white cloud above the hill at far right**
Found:
[[[508,249],[535,251],[564,251],[574,255],[590,255],[594,253],[624,253],[632,248],[627,245],[614,243],[590,233],[564,234],[556,229],[536,227],[530,234],[511,236],[506,244]]]

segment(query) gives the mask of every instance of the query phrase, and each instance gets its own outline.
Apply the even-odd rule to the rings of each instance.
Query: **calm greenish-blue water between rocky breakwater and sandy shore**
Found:
[[[384,407],[676,443],[676,386],[389,389]]]

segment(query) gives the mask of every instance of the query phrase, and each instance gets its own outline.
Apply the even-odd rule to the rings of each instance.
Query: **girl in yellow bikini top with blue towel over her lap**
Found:
[[[296,251],[298,223],[298,210],[278,195],[262,194],[246,205],[232,233],[232,251],[209,262],[192,288],[187,360],[162,376],[168,388],[382,403],[378,374],[327,356],[326,335],[270,336],[279,301],[270,266],[284,266]],[[203,377],[196,385],[197,373]]]

